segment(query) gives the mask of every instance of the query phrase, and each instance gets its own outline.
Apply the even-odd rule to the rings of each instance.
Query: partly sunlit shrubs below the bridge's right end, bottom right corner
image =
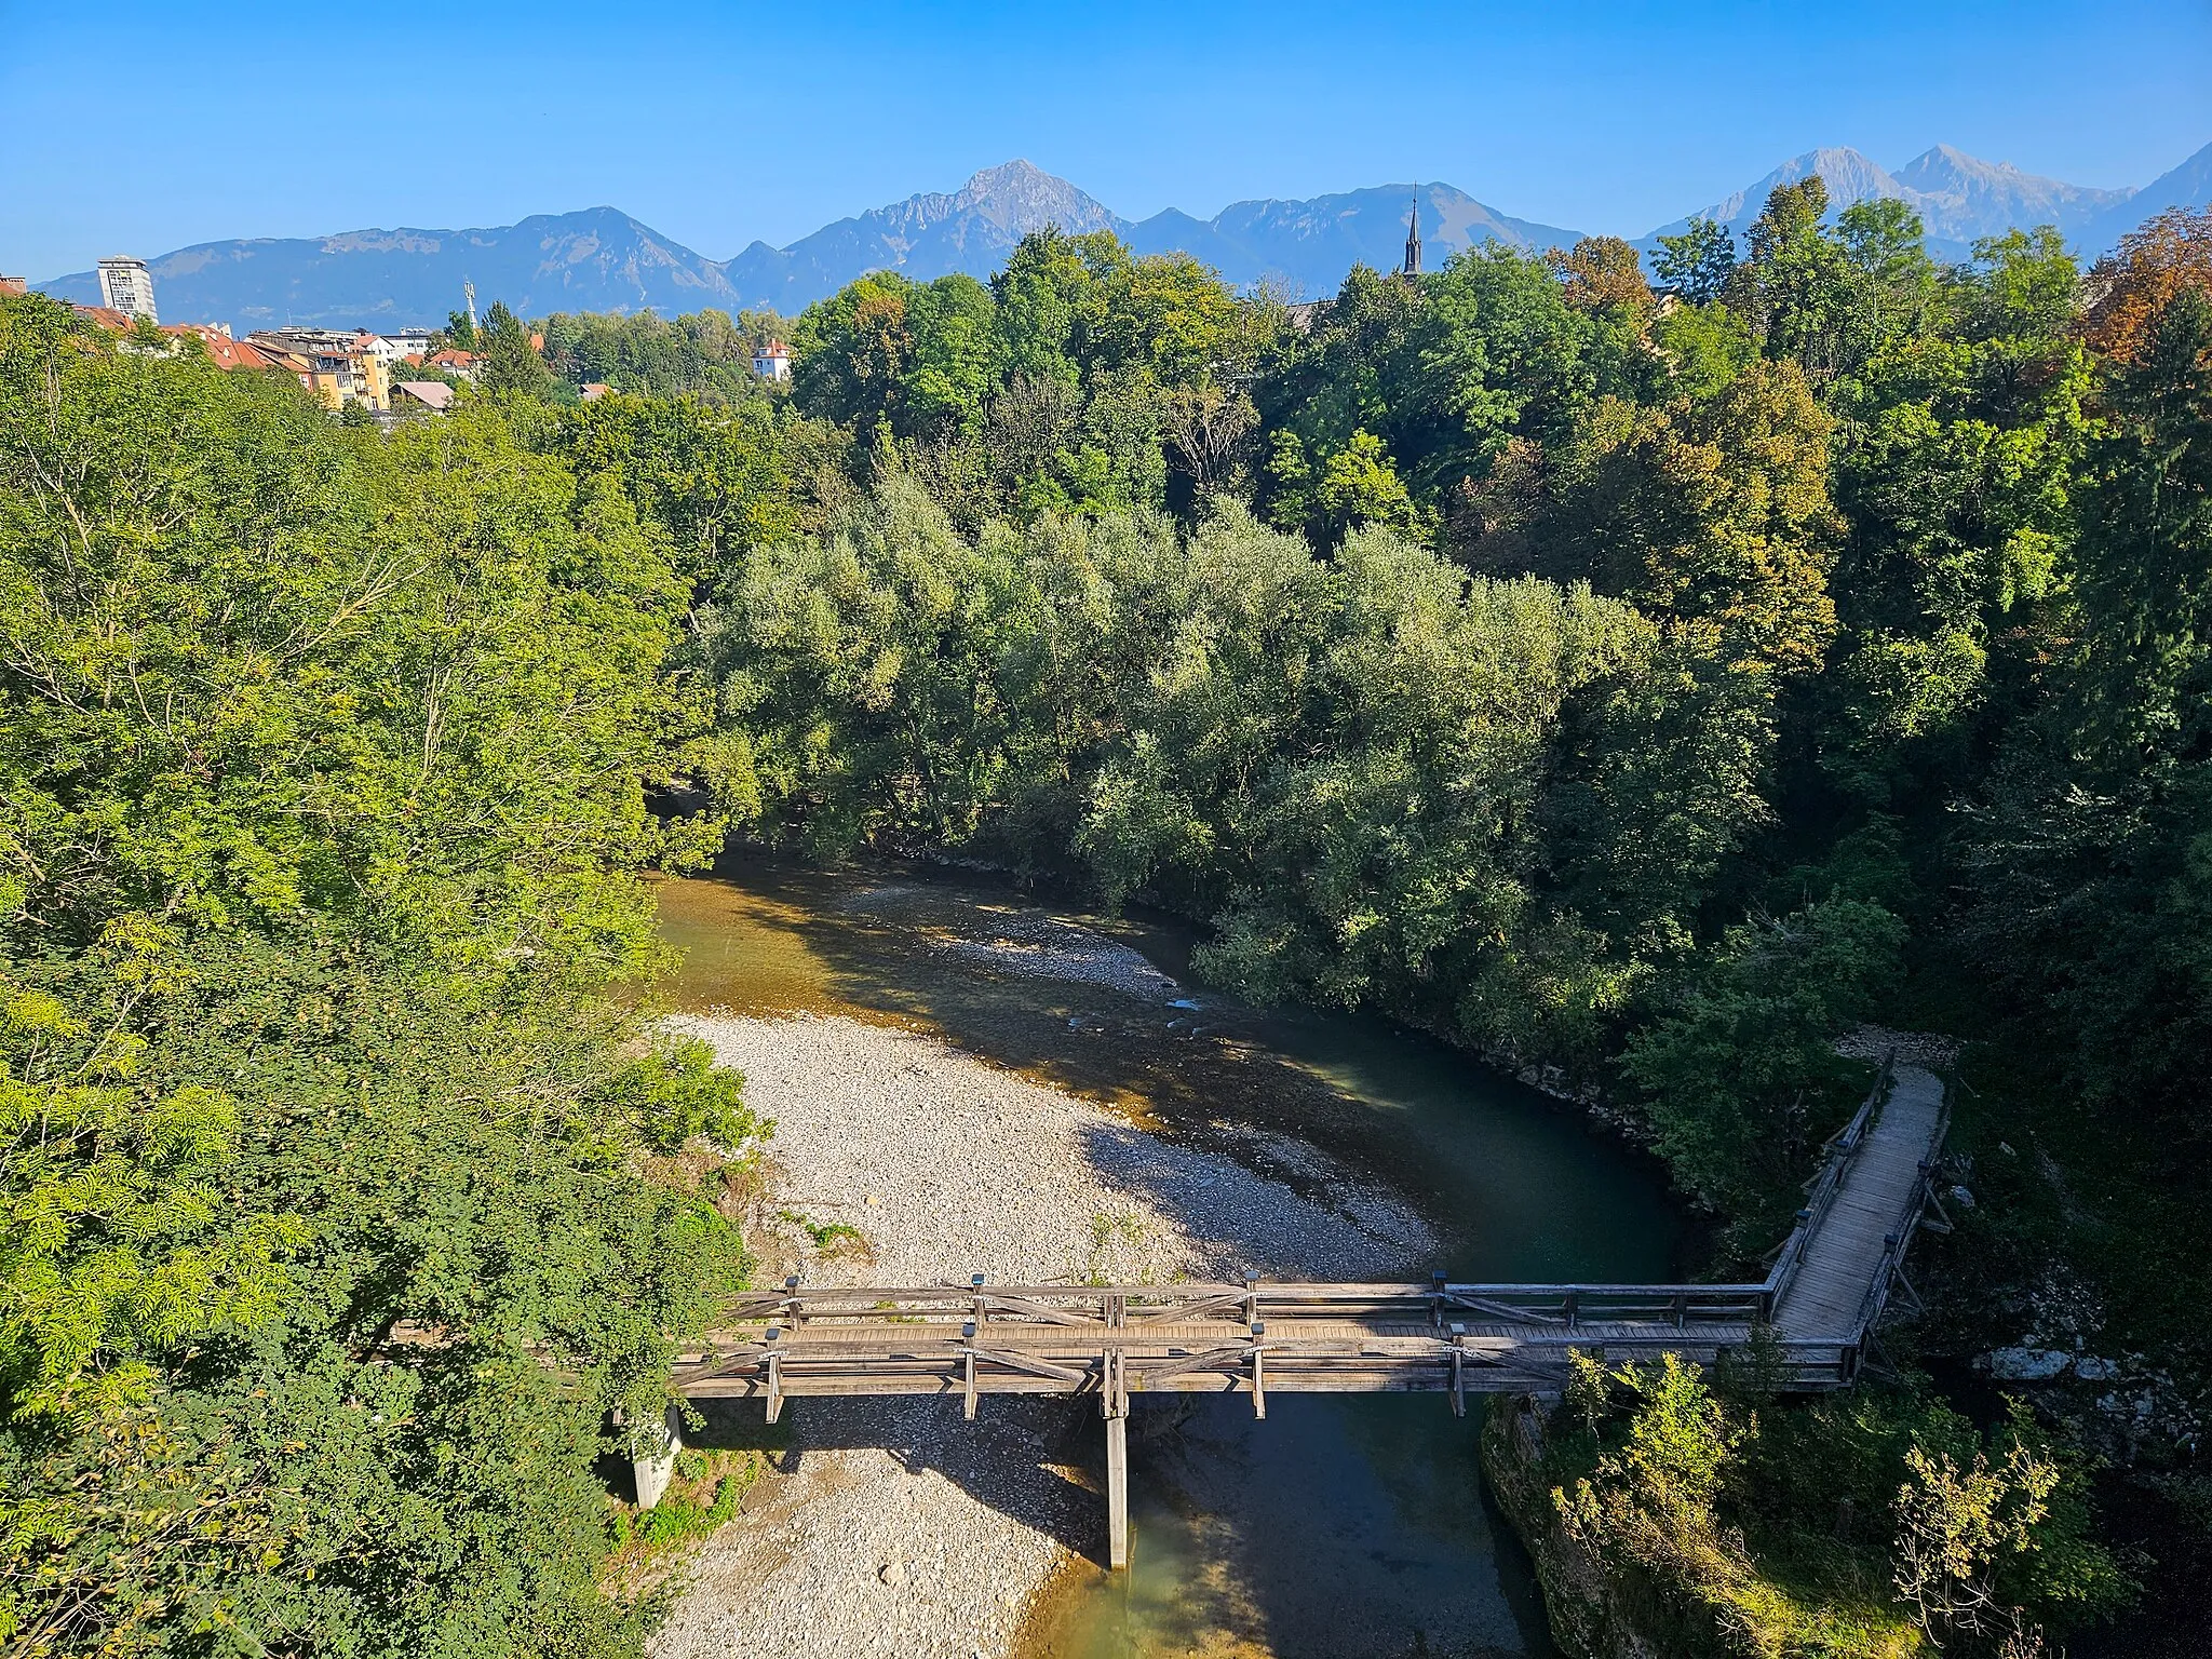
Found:
[[[2081,1460],[1922,1378],[1747,1407],[1672,1354],[1573,1358],[1546,1460],[1566,1535],[1670,1655],[2024,1655],[2128,1595]]]

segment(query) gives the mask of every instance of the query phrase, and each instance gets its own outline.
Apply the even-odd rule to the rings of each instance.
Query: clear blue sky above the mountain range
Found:
[[[2212,0],[0,0],[0,270],[613,204],[710,257],[1029,157],[1117,212],[1444,179],[1641,234],[1787,155],[2148,184]]]

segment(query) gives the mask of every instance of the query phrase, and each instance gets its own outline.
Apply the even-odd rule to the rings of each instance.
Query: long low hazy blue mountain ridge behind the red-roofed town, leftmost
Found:
[[[615,208],[531,215],[491,230],[347,230],[316,239],[206,241],[148,261],[164,323],[411,327],[445,323],[476,283],[478,310],[524,316],[732,307],[723,268]],[[40,288],[100,303],[93,272]]]

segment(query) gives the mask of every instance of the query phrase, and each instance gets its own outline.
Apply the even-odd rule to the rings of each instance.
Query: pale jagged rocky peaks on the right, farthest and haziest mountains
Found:
[[[1781,184],[1796,184],[1809,173],[1818,173],[1827,184],[1829,210],[1843,212],[1854,201],[1867,197],[1896,197],[1911,204],[1927,230],[1929,252],[1938,259],[1966,259],[1980,237],[2002,237],[2013,226],[2055,223],[2068,241],[2081,243],[2084,232],[2104,219],[2126,217],[2135,190],[2093,190],[2059,179],[2042,179],[2022,173],[2006,161],[1982,161],[1978,157],[1938,144],[1924,155],[1916,155],[1896,173],[1858,150],[1805,150],[1794,155],[1756,184],[1736,190],[1723,201],[1714,201],[1699,215],[1719,219],[1736,232],[1752,228],[1767,204],[1767,195]],[[1639,239],[1644,250],[1657,248],[1659,237],[1672,237],[1690,223],[1690,217],[1659,226]],[[2128,219],[2126,226],[2135,221]],[[2124,228],[2126,228],[2124,226]],[[2101,234],[2101,232],[2099,232]],[[2115,232],[2117,239],[2117,232]],[[2081,243],[2088,252],[2099,252],[2104,241]]]

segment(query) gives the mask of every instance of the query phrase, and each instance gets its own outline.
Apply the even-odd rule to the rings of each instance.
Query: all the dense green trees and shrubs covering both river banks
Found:
[[[389,434],[0,301],[7,1639],[635,1650],[591,1462],[759,1133],[655,1035],[639,872],[739,832],[1164,905],[1601,1095],[1714,1272],[1838,1033],[1966,1040],[1893,1380],[1593,1367],[1562,1526],[1668,1652],[2188,1652],[2212,221],[1951,268],[1809,179],[1655,274],[1290,307],[1040,232],[810,307],[790,389],[772,319],[495,310]],[[2031,1338],[2115,1405],[1960,1365]]]

